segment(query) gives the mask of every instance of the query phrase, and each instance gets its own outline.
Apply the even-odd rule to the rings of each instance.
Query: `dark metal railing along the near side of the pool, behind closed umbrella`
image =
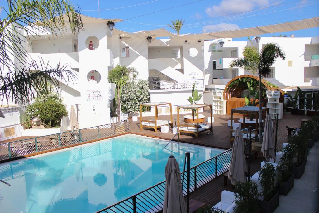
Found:
[[[228,171],[231,156],[232,148],[190,168],[189,191],[193,192],[197,188]],[[187,174],[188,171],[186,170],[185,172]],[[130,196],[129,198],[126,198],[97,212],[159,212],[163,210],[165,184],[166,181],[164,180],[140,193]],[[186,195],[186,190],[185,182],[183,183],[184,195]]]

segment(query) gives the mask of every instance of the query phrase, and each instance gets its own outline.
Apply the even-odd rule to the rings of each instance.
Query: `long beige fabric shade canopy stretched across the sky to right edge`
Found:
[[[217,38],[240,38],[245,36],[261,35],[267,33],[281,33],[289,32],[294,30],[308,29],[312,27],[319,27],[319,17],[314,17],[311,19],[303,19],[299,21],[285,22],[281,24],[267,25],[262,27],[250,27],[238,30],[228,30],[212,33],[202,33],[202,34],[183,34],[176,35],[164,28],[149,30],[149,31],[139,31],[135,33],[127,33],[121,30],[114,29],[113,34],[119,34],[122,37],[165,37],[171,36],[172,39],[206,39],[213,40]]]

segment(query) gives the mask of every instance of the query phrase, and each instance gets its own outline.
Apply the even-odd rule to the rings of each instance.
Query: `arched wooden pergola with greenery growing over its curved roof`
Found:
[[[229,87],[229,85],[234,82],[237,79],[240,78],[251,78],[259,81],[258,76],[254,75],[239,75],[232,80],[230,80],[224,89],[224,100],[226,100],[226,114],[230,114],[231,109],[238,108],[245,106],[245,98],[242,98],[242,91],[247,89],[247,84],[236,84],[233,87]],[[266,87],[266,90],[279,90],[280,91],[280,98],[279,102],[284,103],[285,102],[285,97],[284,97],[284,91],[279,89],[277,86],[271,84],[269,81],[262,79],[261,80],[262,84]],[[254,86],[254,85],[252,85]],[[266,99],[263,99],[263,101],[267,101]],[[259,106],[259,105],[257,105]]]

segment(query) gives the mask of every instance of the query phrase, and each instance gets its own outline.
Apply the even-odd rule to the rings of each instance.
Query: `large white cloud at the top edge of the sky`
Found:
[[[206,8],[205,12],[210,17],[214,17],[250,11],[256,7],[266,6],[268,4],[268,0],[222,0],[219,5]]]

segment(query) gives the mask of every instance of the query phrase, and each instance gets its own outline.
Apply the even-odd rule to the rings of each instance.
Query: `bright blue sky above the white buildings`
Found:
[[[98,17],[98,0],[70,1],[80,5],[84,15]],[[5,2],[0,0],[1,4]],[[175,19],[185,20],[181,30],[181,34],[184,34],[256,27],[315,16],[319,16],[319,0],[100,0],[100,18],[124,19],[115,27],[126,32],[162,27],[172,31],[167,24]],[[319,27],[282,34],[313,37],[319,35]]]

